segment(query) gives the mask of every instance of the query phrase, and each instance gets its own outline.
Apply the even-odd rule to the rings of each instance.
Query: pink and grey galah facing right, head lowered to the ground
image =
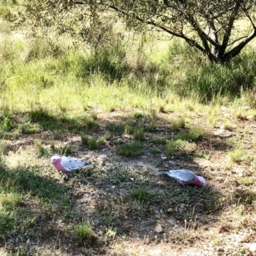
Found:
[[[204,177],[197,176],[195,173],[189,170],[159,171],[159,173],[168,175],[169,177],[177,180],[183,186],[186,184],[194,184],[196,186],[202,187],[206,184]]]

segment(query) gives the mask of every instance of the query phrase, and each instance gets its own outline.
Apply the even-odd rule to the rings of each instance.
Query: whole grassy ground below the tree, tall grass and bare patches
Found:
[[[92,56],[30,42],[4,23],[1,31],[0,243],[6,251],[109,255],[115,248],[125,255],[122,243],[131,241],[131,249],[137,236],[153,244],[166,240],[177,249],[204,241],[191,225],[184,228],[184,220],[206,228],[221,223],[228,234],[253,225],[255,121],[249,120],[255,119],[255,98],[240,94],[242,85],[255,83],[253,49],[221,67],[180,42],[172,42],[168,54],[153,55],[147,49],[154,40],[142,53],[133,42],[116,40]],[[220,90],[223,95],[212,99]],[[218,141],[213,132],[220,130],[227,137]],[[143,151],[155,157],[141,156]],[[100,156],[106,152],[108,161]],[[49,165],[53,154],[86,154],[96,167],[63,182]],[[161,154],[176,167],[203,172],[209,186],[182,190],[159,179],[157,168],[172,168]],[[127,159],[131,155],[138,158]],[[221,163],[200,168],[194,157]],[[172,218],[182,223],[179,229],[170,225]],[[141,220],[151,230],[139,232]],[[156,222],[165,228],[159,238],[152,233]],[[219,236],[207,234],[207,241],[228,244]]]

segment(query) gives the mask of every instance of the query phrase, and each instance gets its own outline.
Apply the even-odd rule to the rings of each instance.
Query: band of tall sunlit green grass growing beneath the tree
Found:
[[[172,111],[184,97],[204,103],[223,96],[235,99],[255,86],[252,47],[217,65],[179,40],[164,52],[117,36],[94,53],[86,47],[63,51],[59,42],[29,43],[12,33],[0,43],[0,99],[7,99],[12,111],[31,111],[41,104],[47,111],[74,115],[84,113],[85,102],[106,111],[124,106]]]

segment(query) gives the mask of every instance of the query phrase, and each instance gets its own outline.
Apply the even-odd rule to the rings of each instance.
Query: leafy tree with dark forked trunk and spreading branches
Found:
[[[256,36],[256,0],[25,0],[17,24],[34,33],[80,36],[94,49],[109,40],[113,22],[134,31],[157,29],[184,39],[212,62],[231,60]],[[238,21],[243,20],[243,31]],[[40,28],[40,30],[38,30]]]

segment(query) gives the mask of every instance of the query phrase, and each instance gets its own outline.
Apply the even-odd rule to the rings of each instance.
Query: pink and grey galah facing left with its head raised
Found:
[[[82,167],[93,167],[91,163],[80,161],[76,158],[72,157],[60,157],[60,156],[52,156],[51,163],[54,167],[63,173],[72,173],[74,170],[82,168]]]

